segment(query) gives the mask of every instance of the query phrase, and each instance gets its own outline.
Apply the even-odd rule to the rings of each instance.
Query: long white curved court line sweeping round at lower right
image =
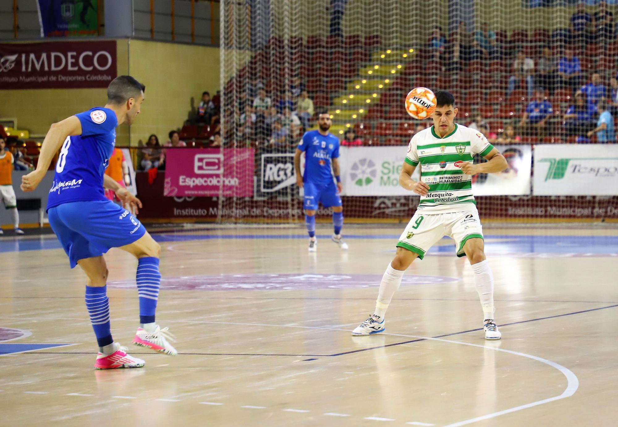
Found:
[[[280,325],[280,324],[264,324],[264,323],[232,323],[232,322],[210,322],[210,321],[179,321],[179,322],[184,322],[184,323],[222,323],[222,324],[240,324],[240,325],[253,325],[253,326],[274,326],[276,328],[285,327],[284,325]],[[328,329],[328,328],[320,328],[318,326],[289,326],[289,328],[326,329],[326,330],[329,330],[329,331],[345,331],[345,332],[349,332],[347,329]],[[570,397],[570,396],[574,395],[575,391],[577,391],[577,389],[579,387],[579,380],[577,379],[577,376],[572,371],[570,371],[568,368],[565,368],[564,366],[559,365],[559,364],[557,364],[557,363],[555,363],[555,362],[553,362],[551,360],[547,360],[547,359],[544,359],[544,358],[541,358],[541,357],[536,357],[536,356],[529,355],[529,354],[526,354],[526,353],[514,352],[512,350],[499,349],[497,347],[488,347],[486,345],[470,344],[468,342],[453,341],[453,340],[442,339],[442,338],[421,337],[421,336],[418,336],[418,335],[389,334],[387,332],[382,332],[382,334],[383,335],[389,335],[389,336],[396,336],[396,337],[422,338],[422,339],[426,339],[426,340],[449,342],[451,344],[470,345],[472,347],[480,347],[481,349],[490,349],[490,350],[495,350],[496,352],[504,352],[504,353],[514,354],[514,355],[517,355],[517,356],[527,357],[527,358],[530,358],[532,360],[536,360],[536,361],[540,361],[541,363],[545,363],[546,365],[549,365],[552,368],[556,368],[557,370],[561,371],[561,373],[567,378],[567,387],[564,389],[564,392],[562,392],[561,395],[550,397],[549,399],[537,400],[536,402],[531,402],[530,404],[520,405],[520,406],[517,406],[517,407],[514,407],[514,408],[505,409],[505,410],[502,410],[502,411],[499,411],[499,412],[489,413],[487,415],[478,416],[476,418],[470,418],[470,420],[459,421],[458,423],[449,424],[449,425],[444,426],[444,427],[464,426],[464,425],[467,425],[467,424],[476,423],[476,421],[488,420],[489,418],[495,418],[496,416],[504,415],[506,413],[511,413],[511,412],[522,410],[522,409],[527,409],[527,408],[535,407],[535,406],[538,406],[538,405],[547,404],[549,402],[554,402],[554,400],[565,399],[566,397]]]

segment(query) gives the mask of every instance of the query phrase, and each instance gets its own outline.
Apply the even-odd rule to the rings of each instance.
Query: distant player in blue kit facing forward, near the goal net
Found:
[[[303,135],[294,154],[296,184],[305,188],[305,222],[309,233],[309,252],[316,252],[318,240],[315,238],[315,213],[318,203],[324,208],[332,208],[334,234],[332,241],[340,248],[348,245],[341,239],[344,225],[344,208],[341,203],[342,185],[339,178],[339,138],[328,132],[331,129],[331,116],[327,112],[318,114],[318,130],[310,130]],[[300,171],[300,156],[305,153],[305,174]],[[333,179],[334,175],[334,179]],[[335,181],[337,184],[335,184]]]

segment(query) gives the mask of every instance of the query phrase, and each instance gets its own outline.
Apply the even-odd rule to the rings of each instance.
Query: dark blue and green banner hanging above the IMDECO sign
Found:
[[[41,37],[98,35],[98,0],[38,0]]]

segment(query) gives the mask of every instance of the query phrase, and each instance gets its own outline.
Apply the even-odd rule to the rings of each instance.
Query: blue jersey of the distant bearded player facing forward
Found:
[[[324,137],[320,131],[310,130],[303,135],[298,150],[305,151],[303,182],[332,184],[331,159],[339,157],[339,138],[332,133]]]

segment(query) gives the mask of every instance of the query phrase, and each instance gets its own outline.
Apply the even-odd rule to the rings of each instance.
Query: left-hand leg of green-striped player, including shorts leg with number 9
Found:
[[[385,329],[384,316],[392,297],[399,289],[405,270],[412,262],[425,256],[425,253],[444,236],[442,215],[415,214],[397,242],[397,253],[387,266],[373,315],[352,331],[352,335],[373,335]]]

